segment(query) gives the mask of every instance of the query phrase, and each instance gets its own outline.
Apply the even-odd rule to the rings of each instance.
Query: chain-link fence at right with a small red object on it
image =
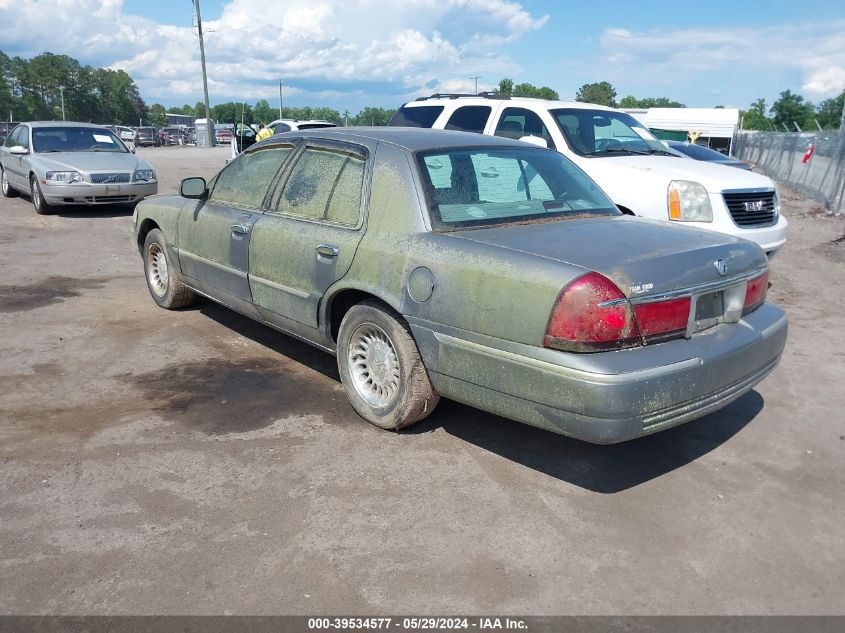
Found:
[[[806,158],[811,143],[813,151]],[[845,213],[845,132],[739,132],[733,154],[832,213]]]

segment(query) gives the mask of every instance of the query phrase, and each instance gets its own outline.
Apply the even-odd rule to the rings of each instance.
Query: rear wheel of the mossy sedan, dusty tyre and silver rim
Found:
[[[408,326],[378,301],[359,303],[344,316],[337,365],[355,411],[382,429],[418,422],[440,400]]]

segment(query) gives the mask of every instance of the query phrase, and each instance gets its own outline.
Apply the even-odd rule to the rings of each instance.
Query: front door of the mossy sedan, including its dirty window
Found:
[[[249,288],[249,243],[253,225],[276,174],[294,146],[276,145],[241,154],[209,185],[209,196],[179,215],[182,273],[198,290],[255,315]]]

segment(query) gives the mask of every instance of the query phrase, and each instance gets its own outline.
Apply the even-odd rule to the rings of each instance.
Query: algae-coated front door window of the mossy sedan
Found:
[[[292,146],[268,147],[238,156],[217,174],[209,200],[260,209]]]

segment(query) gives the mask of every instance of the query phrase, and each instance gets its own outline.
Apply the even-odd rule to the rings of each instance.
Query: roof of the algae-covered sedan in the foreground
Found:
[[[419,127],[332,127],[295,132],[283,132],[271,136],[267,141],[292,138],[322,138],[336,141],[359,142],[373,144],[373,142],[390,143],[411,152],[448,147],[478,147],[478,146],[516,146],[525,147],[526,143],[501,136],[486,136],[475,132],[459,132],[456,130],[432,130]],[[261,144],[266,143],[262,142]]]

